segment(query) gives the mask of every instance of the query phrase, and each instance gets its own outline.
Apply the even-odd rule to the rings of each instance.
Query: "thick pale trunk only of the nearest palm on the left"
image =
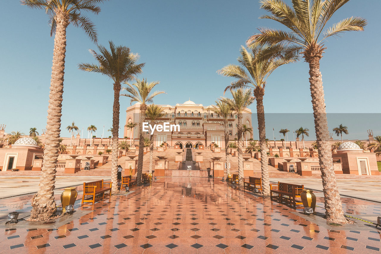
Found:
[[[68,17],[58,12],[56,23],[42,172],[38,192],[32,198],[32,211],[30,212],[30,219],[36,221],[48,220],[57,211],[56,202],[54,201],[54,183],[56,182],[59,134],[61,132]]]

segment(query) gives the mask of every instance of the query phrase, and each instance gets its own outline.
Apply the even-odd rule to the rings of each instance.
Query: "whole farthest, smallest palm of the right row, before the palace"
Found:
[[[212,105],[212,108],[210,108],[210,110],[224,119],[225,158],[226,158],[226,174],[224,174],[224,177],[227,177],[227,175],[230,174],[230,154],[229,154],[229,149],[227,149],[229,146],[229,131],[227,130],[227,128],[229,127],[228,118],[230,117],[233,111],[229,107],[229,105],[223,100],[222,101],[217,100],[215,101],[215,103],[216,105]]]

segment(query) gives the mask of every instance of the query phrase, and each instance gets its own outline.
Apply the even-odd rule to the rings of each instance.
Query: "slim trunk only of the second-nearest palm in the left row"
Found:
[[[111,182],[112,194],[119,193],[118,191],[118,141],[119,141],[119,96],[121,85],[114,84],[114,105],[112,106],[112,154],[111,154]]]

